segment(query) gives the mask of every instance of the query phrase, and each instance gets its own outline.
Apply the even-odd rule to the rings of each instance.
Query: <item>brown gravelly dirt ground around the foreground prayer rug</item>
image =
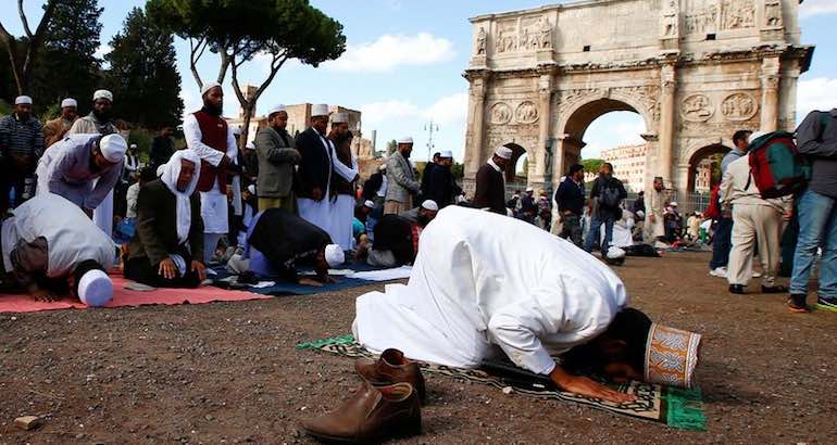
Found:
[[[633,305],[704,334],[707,432],[427,376],[408,443],[837,443],[837,314],[730,295],[708,254],[628,258]],[[751,288],[758,288],[753,282]],[[351,360],[298,352],[348,333],[341,293],[184,306],[0,314],[0,443],[310,443],[299,422],[360,382]],[[17,416],[46,416],[18,431]]]

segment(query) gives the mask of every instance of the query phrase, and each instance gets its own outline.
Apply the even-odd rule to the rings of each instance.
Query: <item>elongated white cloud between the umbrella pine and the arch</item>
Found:
[[[429,65],[454,58],[453,43],[429,33],[385,34],[373,42],[347,44],[346,52],[322,66],[343,72],[389,72],[401,65]]]

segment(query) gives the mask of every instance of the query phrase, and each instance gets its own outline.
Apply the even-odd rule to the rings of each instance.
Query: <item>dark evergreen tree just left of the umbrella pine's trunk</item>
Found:
[[[184,105],[172,34],[135,8],[111,48],[104,59],[114,116],[151,129],[179,123]]]

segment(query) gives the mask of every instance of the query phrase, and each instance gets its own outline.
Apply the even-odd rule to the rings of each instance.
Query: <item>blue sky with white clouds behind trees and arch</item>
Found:
[[[7,0],[9,1],[9,0]],[[377,130],[377,150],[386,141],[412,136],[413,157],[427,157],[430,119],[435,151],[451,150],[463,156],[467,81],[462,77],[471,56],[469,17],[510,10],[539,7],[545,0],[312,0],[311,3],[343,25],[347,51],[334,62],[313,68],[287,63],[261,97],[257,113],[275,104],[328,103],[360,110],[364,137]],[[26,0],[30,24],[39,20],[42,1]],[[127,11],[142,7],[145,0],[100,0],[102,47],[122,28]],[[10,16],[10,18],[13,18]],[[800,9],[802,42],[815,44],[813,62],[799,80],[797,115],[799,119],[816,109],[837,106],[837,43],[834,21],[837,0],[805,0]],[[18,21],[3,18],[11,33],[20,35]],[[32,24],[32,27],[35,27]],[[189,47],[176,39],[177,65],[183,77],[186,111],[200,106],[200,92],[189,71]],[[208,58],[198,66],[204,79],[217,73],[217,59]],[[243,67],[245,80],[261,84],[267,62],[254,60]],[[228,78],[229,76],[227,76]],[[232,88],[227,92],[225,114],[235,115],[238,101]],[[118,100],[118,98],[116,98]],[[595,157],[602,149],[625,143],[641,143],[645,131],[639,115],[609,113],[592,123],[585,135],[583,157]]]

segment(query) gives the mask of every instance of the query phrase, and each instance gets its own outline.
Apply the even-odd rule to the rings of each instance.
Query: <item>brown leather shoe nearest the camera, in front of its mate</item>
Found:
[[[364,381],[339,408],[302,422],[310,435],[330,442],[375,443],[422,433],[422,412],[413,386],[375,386]]]

